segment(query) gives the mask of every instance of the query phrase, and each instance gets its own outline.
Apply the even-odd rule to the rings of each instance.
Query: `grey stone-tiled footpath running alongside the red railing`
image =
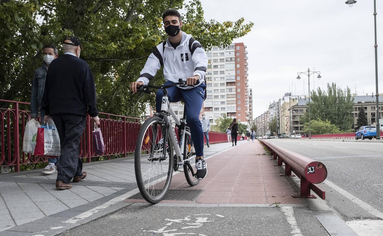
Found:
[[[231,143],[205,146],[205,157],[231,147]],[[79,215],[137,188],[133,156],[84,163],[87,178],[74,183],[70,190],[56,190],[57,174],[44,176],[41,171],[0,174],[0,235],[10,235],[10,231],[19,229],[30,231],[27,230],[30,224],[22,226],[48,216]]]

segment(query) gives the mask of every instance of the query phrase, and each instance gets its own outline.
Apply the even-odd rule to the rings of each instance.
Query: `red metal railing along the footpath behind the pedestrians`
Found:
[[[26,155],[22,150],[22,143],[26,122],[30,118],[29,103],[0,99],[2,103],[9,103],[7,109],[0,108],[0,167],[14,166],[20,171],[21,164],[44,163],[47,158],[42,156]],[[100,128],[105,143],[103,156],[126,156],[133,153],[136,148],[136,139],[144,119],[119,116],[100,112]],[[93,120],[87,116],[85,130],[80,140],[80,158],[91,162],[96,157],[93,151]],[[177,133],[177,132],[176,132]],[[210,131],[210,143],[227,142],[226,133]]]

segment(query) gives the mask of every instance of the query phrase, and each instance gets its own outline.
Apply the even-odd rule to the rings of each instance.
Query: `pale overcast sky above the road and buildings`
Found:
[[[313,67],[321,80],[310,76],[310,88],[335,82],[352,93],[375,95],[373,0],[201,0],[206,20],[236,21],[244,17],[254,27],[234,42],[247,45],[249,87],[253,90],[254,118],[268,104],[289,92],[308,94],[306,75]],[[380,2],[380,1],[377,1]],[[234,4],[237,3],[237,4]],[[383,4],[377,3],[379,91],[383,93]],[[290,88],[291,89],[291,88]]]

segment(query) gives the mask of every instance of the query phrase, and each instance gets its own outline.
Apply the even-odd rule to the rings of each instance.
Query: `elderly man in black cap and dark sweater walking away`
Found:
[[[70,189],[73,182],[87,176],[79,158],[80,137],[87,113],[100,124],[97,111],[95,82],[87,62],[79,59],[80,40],[74,36],[64,39],[64,55],[48,68],[41,108],[44,121],[52,117],[60,136],[61,156],[58,163],[56,188]]]

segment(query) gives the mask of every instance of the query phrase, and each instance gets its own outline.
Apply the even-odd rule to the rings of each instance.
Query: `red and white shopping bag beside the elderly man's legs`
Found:
[[[33,155],[58,158],[60,152],[60,138],[53,120],[49,120],[46,126],[37,129],[36,147]]]

